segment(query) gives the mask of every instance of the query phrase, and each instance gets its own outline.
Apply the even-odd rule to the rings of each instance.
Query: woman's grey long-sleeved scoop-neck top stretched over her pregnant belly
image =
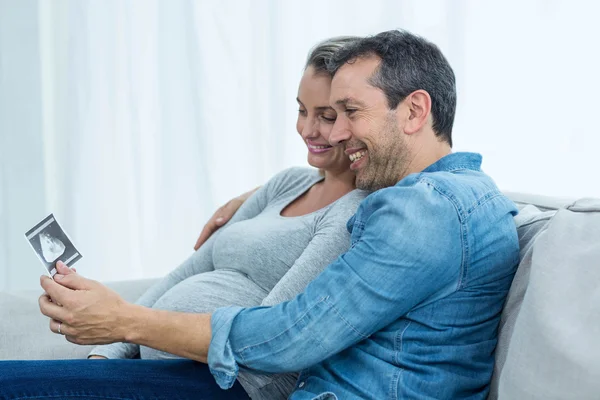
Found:
[[[323,180],[315,169],[290,168],[272,178],[182,265],[150,288],[137,304],[172,311],[211,313],[230,305],[275,305],[308,283],[350,246],[346,222],[367,193],[354,190],[310,214],[284,217],[283,209]],[[160,358],[131,343],[96,347],[107,358]],[[145,355],[148,354],[148,357]],[[162,358],[168,358],[166,355]],[[293,389],[287,375],[243,372],[253,399],[279,397]]]

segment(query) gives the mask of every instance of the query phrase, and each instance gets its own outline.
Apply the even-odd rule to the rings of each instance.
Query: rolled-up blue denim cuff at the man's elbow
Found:
[[[242,307],[217,309],[210,318],[212,338],[208,348],[208,368],[221,389],[229,389],[237,379],[239,366],[235,360],[229,333]]]

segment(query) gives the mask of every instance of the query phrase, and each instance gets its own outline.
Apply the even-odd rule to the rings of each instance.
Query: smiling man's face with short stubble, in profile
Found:
[[[390,110],[383,91],[369,83],[379,63],[369,57],[343,65],[333,77],[329,98],[337,112],[329,142],[345,143],[356,186],[371,191],[395,185],[409,162],[402,134],[406,106],[401,102]]]

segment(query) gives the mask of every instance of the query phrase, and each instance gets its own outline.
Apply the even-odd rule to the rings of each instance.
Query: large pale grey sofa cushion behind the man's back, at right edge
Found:
[[[599,398],[600,200],[551,213],[519,226],[491,399]]]

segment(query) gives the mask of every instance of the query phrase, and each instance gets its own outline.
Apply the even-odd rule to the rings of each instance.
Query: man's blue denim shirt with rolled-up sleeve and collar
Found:
[[[360,204],[352,247],[304,293],[211,319],[208,364],[301,371],[290,399],[485,399],[518,261],[515,205],[453,153]]]

